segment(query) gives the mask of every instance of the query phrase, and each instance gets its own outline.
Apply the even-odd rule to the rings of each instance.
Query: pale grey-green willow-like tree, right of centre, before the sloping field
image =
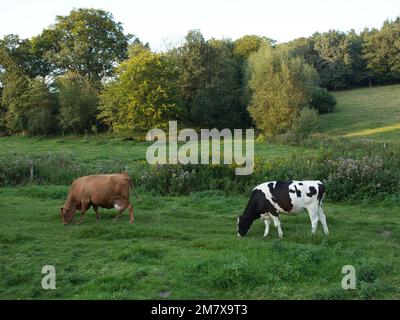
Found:
[[[308,105],[318,83],[315,69],[286,47],[262,46],[248,61],[249,112],[266,134],[291,128],[299,111]]]

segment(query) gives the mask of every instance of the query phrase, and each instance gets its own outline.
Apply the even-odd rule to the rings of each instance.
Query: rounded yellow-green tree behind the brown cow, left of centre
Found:
[[[98,119],[114,131],[143,134],[166,128],[180,116],[177,81],[177,67],[168,55],[134,46],[117,68],[117,79],[100,96]]]

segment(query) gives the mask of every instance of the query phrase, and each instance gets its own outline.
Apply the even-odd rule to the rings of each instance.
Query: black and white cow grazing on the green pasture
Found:
[[[269,181],[255,187],[243,215],[238,217],[238,236],[247,234],[254,220],[265,221],[266,237],[272,221],[278,229],[278,235],[283,233],[279,214],[297,213],[303,209],[308,211],[311,220],[311,232],[317,230],[321,222],[325,234],[329,233],[326,217],[322,210],[322,198],[325,187],[321,181]]]

